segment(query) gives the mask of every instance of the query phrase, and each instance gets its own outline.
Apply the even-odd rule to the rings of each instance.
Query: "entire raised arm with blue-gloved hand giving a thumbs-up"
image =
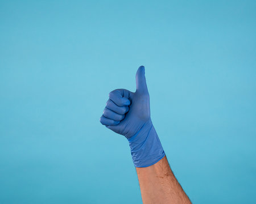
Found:
[[[128,139],[144,204],[191,203],[172,173],[152,125],[144,66],[137,71],[136,85],[135,92],[110,92],[100,122]]]

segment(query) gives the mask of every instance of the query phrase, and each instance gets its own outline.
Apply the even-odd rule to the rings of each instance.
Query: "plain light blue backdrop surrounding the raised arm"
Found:
[[[1,1],[0,203],[142,203],[99,122],[140,65],[192,202],[255,202],[255,25],[255,1]]]

